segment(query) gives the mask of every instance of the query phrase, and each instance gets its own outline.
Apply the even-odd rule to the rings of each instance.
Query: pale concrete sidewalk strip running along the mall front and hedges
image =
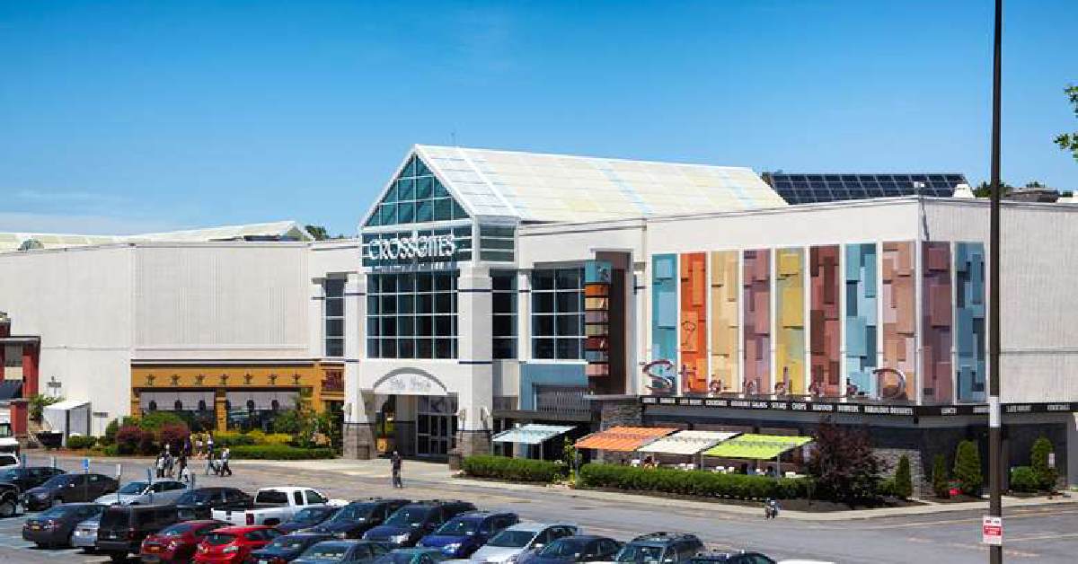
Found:
[[[275,468],[289,468],[307,471],[336,472],[343,476],[362,478],[387,478],[389,477],[389,460],[347,460],[336,458],[332,460],[236,460],[233,466],[263,466]],[[434,485],[448,485],[454,489],[479,487],[484,490],[498,490],[503,492],[530,492],[547,494],[551,496],[563,496],[570,499],[592,499],[595,501],[633,504],[636,506],[652,506],[657,508],[676,507],[680,509],[692,508],[702,511],[718,511],[728,514],[759,517],[759,507],[740,506],[722,504],[719,501],[696,501],[690,499],[675,499],[665,497],[652,497],[647,495],[636,495],[631,493],[596,492],[591,490],[572,490],[564,485],[534,485],[522,483],[493,482],[476,479],[455,478],[448,466],[440,463],[423,463],[417,460],[405,460],[404,474],[410,482],[424,482]],[[1004,508],[1044,507],[1065,504],[1078,504],[1078,496],[1019,498],[1004,497]],[[793,519],[808,522],[833,522],[851,521],[859,519],[874,519],[884,517],[910,517],[937,513],[949,513],[956,511],[980,510],[987,511],[989,501],[965,501],[955,504],[939,504],[925,501],[926,505],[911,507],[888,507],[880,509],[855,509],[849,511],[831,512],[807,512],[784,510],[783,519]]]

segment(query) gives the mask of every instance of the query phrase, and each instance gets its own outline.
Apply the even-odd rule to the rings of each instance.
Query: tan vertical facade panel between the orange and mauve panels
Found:
[[[737,341],[738,265],[735,250],[711,253],[711,391],[740,391]]]

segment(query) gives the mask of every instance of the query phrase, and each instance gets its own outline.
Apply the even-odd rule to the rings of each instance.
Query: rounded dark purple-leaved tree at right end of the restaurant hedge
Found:
[[[867,431],[840,427],[828,417],[817,427],[815,442],[807,469],[820,495],[849,505],[875,498],[883,462]]]

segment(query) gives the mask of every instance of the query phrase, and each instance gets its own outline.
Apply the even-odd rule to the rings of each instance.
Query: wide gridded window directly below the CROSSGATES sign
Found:
[[[369,358],[457,358],[457,273],[371,274]]]

